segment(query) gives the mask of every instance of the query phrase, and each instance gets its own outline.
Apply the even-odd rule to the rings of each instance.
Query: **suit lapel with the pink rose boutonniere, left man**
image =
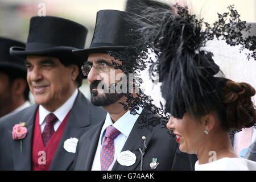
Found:
[[[37,110],[37,105],[32,105],[27,109],[26,113],[20,118],[20,122],[27,123],[27,135],[26,138],[22,139],[22,153],[20,151],[20,140],[13,140],[11,131],[10,139],[12,140],[11,146],[13,150],[13,159],[15,170],[31,170],[31,146],[32,137],[34,130],[35,113]]]

